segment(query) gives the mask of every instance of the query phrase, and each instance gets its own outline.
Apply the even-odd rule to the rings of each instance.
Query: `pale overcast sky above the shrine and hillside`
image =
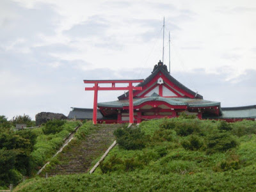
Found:
[[[83,79],[144,79],[162,60],[223,107],[256,104],[256,1],[0,0],[0,115],[92,108]],[[99,102],[124,92],[100,92]]]

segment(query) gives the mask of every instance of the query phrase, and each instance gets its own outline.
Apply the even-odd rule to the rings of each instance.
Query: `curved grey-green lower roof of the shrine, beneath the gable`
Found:
[[[188,107],[210,107],[210,106],[220,106],[220,102],[214,102],[204,99],[189,99],[189,98],[173,98],[173,97],[144,97],[140,99],[133,99],[134,106],[138,106],[143,102],[150,100],[163,101],[173,106],[188,106]],[[122,108],[124,106],[129,106],[129,100],[115,100],[111,102],[99,102],[99,107],[106,108]]]

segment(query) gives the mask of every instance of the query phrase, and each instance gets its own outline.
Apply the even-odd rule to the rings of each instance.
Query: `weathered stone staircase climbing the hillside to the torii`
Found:
[[[58,155],[59,164],[48,171],[48,176],[86,173],[93,160],[102,156],[115,141],[113,132],[122,124],[99,124],[84,140],[68,147]],[[42,176],[45,172],[42,173]]]

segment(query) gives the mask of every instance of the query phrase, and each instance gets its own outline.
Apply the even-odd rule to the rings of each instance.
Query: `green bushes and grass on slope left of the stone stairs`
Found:
[[[28,115],[10,121],[0,116],[0,188],[19,183],[22,176],[34,175],[79,125],[79,122],[52,120],[40,128],[15,131],[16,123],[34,125],[35,122]],[[44,134],[47,128],[53,131]]]

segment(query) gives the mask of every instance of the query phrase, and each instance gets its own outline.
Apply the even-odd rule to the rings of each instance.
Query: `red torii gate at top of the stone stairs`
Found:
[[[98,91],[129,90],[129,123],[133,124],[133,93],[132,90],[142,90],[141,86],[132,86],[132,83],[141,83],[143,79],[132,80],[84,80],[84,83],[94,83],[93,87],[86,87],[86,91],[94,91],[93,100],[93,124],[97,124]],[[100,87],[99,83],[111,83],[111,87]],[[127,87],[116,87],[116,83],[129,83]]]

